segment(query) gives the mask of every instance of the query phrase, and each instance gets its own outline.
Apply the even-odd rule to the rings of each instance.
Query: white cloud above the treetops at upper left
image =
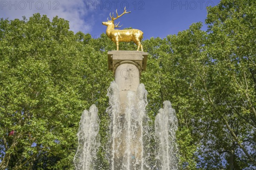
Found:
[[[50,20],[58,15],[70,22],[70,30],[87,33],[93,26],[93,18],[86,17],[92,10],[86,8],[83,0],[1,0],[0,17],[22,19],[35,13],[46,14]],[[87,18],[87,20],[85,20]]]

